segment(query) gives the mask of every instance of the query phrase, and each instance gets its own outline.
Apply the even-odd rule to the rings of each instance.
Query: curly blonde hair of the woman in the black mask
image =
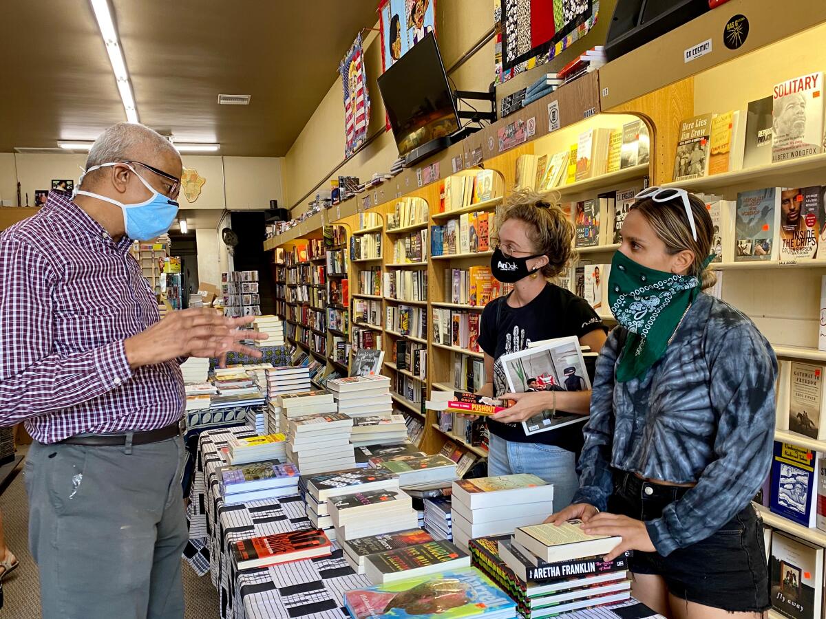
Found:
[[[542,267],[542,275],[546,278],[565,272],[574,258],[574,227],[559,206],[559,200],[557,191],[515,191],[503,203],[496,218],[496,229],[501,229],[508,220],[520,220],[528,225],[533,253],[548,258],[548,264]],[[493,240],[499,243],[498,235]]]

